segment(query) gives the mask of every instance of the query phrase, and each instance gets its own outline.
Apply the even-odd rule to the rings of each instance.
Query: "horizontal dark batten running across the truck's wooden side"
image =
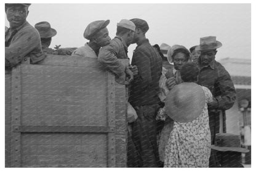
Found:
[[[114,127],[103,127],[103,126],[73,126],[73,125],[20,125],[13,126],[12,132],[88,132],[88,133],[108,133],[114,132]]]

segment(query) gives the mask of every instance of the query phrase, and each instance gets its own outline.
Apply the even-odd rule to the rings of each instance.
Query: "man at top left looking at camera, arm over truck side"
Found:
[[[18,65],[26,57],[31,63],[38,63],[46,55],[42,54],[38,31],[28,22],[28,7],[31,4],[6,4],[6,17],[10,28],[6,31],[6,70]]]

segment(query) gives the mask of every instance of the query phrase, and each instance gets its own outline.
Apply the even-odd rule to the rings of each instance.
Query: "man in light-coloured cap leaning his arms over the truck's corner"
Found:
[[[102,63],[106,70],[115,74],[117,82],[125,84],[126,74],[128,82],[131,82],[136,68],[131,71],[129,66],[124,66],[118,59],[129,59],[127,49],[134,39],[135,25],[130,20],[122,19],[117,26],[116,37],[110,41],[110,44],[100,49],[98,62]]]

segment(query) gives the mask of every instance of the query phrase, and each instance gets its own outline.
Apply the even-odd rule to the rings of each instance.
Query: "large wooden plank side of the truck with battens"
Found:
[[[126,167],[127,86],[97,58],[29,61],[5,74],[6,167]]]

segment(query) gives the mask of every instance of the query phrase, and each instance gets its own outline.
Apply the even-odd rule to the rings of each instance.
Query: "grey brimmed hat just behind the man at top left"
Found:
[[[50,23],[48,22],[36,23],[34,28],[38,30],[40,38],[52,38],[57,34],[57,31],[54,28],[51,28]]]

